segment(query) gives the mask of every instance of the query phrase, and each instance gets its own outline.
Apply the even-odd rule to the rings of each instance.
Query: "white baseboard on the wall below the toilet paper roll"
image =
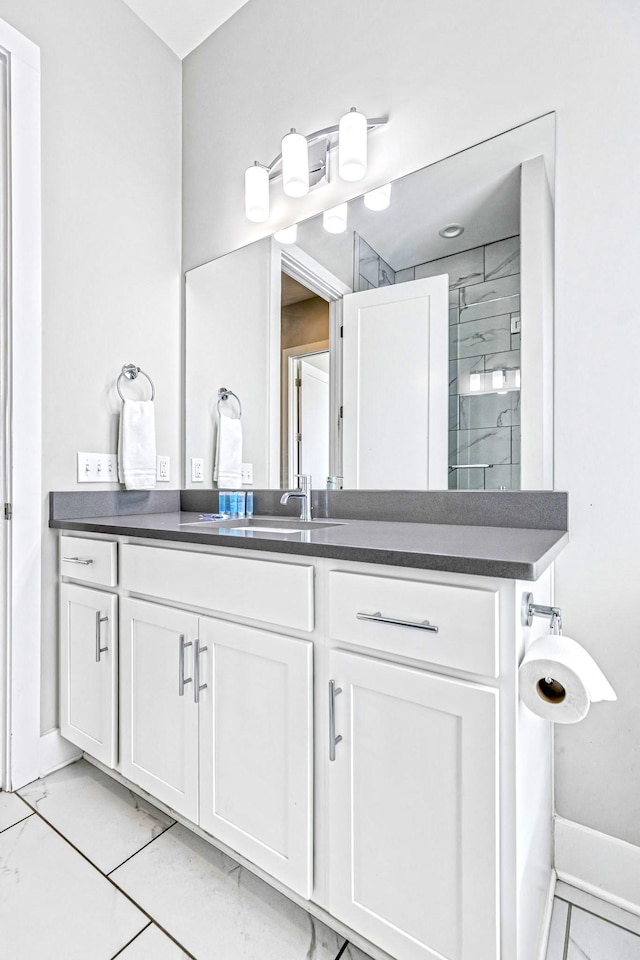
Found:
[[[558,880],[640,916],[640,847],[555,819]]]

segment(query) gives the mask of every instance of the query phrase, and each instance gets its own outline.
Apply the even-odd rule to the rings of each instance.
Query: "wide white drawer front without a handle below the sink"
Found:
[[[313,630],[313,567],[123,544],[125,590],[231,616]]]

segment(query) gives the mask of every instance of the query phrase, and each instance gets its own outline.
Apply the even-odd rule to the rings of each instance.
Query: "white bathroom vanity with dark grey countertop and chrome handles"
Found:
[[[551,601],[564,495],[409,495],[484,498],[446,524],[336,495],[233,535],[177,492],[92,496],[52,495],[62,734],[374,957],[538,957],[551,732],[518,701],[520,603]]]

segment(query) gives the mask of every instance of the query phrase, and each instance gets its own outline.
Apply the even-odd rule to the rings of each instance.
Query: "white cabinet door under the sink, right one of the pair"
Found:
[[[200,640],[200,826],[309,897],[312,644],[209,619]]]

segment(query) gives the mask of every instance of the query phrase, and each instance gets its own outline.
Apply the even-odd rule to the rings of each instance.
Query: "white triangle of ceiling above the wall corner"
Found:
[[[181,60],[246,2],[247,0],[124,0]]]

